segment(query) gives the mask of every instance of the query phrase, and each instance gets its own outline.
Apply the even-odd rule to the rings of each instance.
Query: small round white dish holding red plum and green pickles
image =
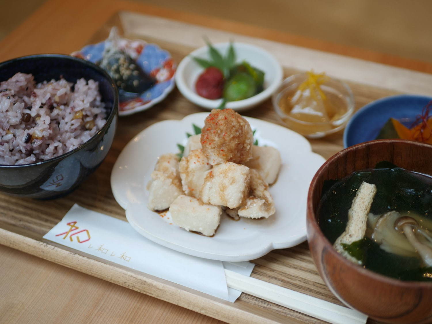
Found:
[[[229,42],[226,42],[213,44],[213,46],[221,54],[225,54],[229,44]],[[270,98],[282,82],[283,70],[276,58],[269,52],[264,51],[262,48],[238,42],[233,42],[233,46],[237,57],[236,63],[241,63],[245,60],[253,67],[257,67],[265,73],[264,90],[262,92],[252,96],[251,98],[227,102],[225,105],[226,108],[231,108],[235,111],[244,111]],[[175,83],[177,88],[180,90],[182,95],[194,104],[208,110],[217,108],[222,103],[222,99],[206,99],[198,95],[195,91],[195,83],[198,76],[203,72],[203,68],[195,62],[193,59],[194,57],[208,60],[209,55],[207,45],[193,51],[191,54],[184,57],[180,64],[178,64],[175,73]]]

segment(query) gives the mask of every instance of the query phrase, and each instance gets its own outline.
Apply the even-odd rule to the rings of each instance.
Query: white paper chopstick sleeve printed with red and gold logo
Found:
[[[250,276],[250,262],[193,257],[138,234],[127,222],[75,204],[45,239],[206,294],[235,302],[241,291],[228,288],[225,270]]]

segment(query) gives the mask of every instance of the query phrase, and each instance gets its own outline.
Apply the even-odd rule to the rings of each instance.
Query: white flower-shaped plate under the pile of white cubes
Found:
[[[256,259],[273,249],[289,248],[306,239],[306,199],[309,184],[325,159],[312,152],[309,142],[285,127],[245,117],[259,145],[279,149],[282,167],[276,184],[270,187],[276,213],[268,219],[234,221],[222,214],[213,237],[187,232],[172,223],[169,212],[147,208],[150,180],[157,158],[178,152],[186,143],[192,124],[202,127],[208,113],[191,114],[181,121],[166,120],[147,127],[123,149],[111,173],[111,188],[126,210],[130,225],[146,238],[167,248],[222,261]]]

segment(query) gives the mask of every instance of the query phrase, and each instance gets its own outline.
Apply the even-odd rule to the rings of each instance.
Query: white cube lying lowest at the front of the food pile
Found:
[[[169,207],[174,224],[206,236],[215,234],[222,213],[220,206],[206,205],[194,197],[180,195]]]

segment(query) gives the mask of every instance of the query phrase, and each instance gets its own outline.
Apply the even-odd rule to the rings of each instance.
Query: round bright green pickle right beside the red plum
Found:
[[[244,72],[235,73],[223,88],[223,98],[227,101],[238,101],[249,98],[257,92],[257,84],[251,75]]]

